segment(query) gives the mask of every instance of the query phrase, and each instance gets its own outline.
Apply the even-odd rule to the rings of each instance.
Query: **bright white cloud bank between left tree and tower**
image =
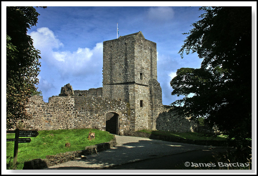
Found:
[[[79,75],[94,73],[96,67],[102,68],[103,43],[97,43],[93,49],[79,47],[77,51],[58,51],[62,42],[49,28],[38,28],[31,32],[34,47],[41,51],[41,58],[48,65],[57,68],[60,74]],[[55,51],[54,51],[55,50]],[[57,50],[57,51],[56,51]]]

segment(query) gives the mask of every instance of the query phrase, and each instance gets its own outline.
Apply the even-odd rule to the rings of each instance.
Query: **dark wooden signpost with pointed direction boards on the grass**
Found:
[[[19,138],[19,137],[37,137],[38,131],[34,130],[7,130],[6,133],[15,133],[15,138],[6,139],[6,142],[14,141],[14,151],[13,151],[13,167],[16,168],[17,154],[18,154],[18,144],[19,143],[29,143],[30,138]]]

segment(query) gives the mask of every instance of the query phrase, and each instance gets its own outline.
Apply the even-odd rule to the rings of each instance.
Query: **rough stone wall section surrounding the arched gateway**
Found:
[[[75,126],[105,130],[105,115],[112,112],[119,115],[119,131],[123,133],[130,130],[130,109],[124,101],[101,96],[75,96],[75,106],[78,112]]]

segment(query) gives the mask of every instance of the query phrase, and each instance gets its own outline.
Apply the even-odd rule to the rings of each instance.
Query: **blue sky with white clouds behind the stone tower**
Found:
[[[128,6],[132,2],[105,6],[105,2],[99,7],[97,2],[90,6],[87,2],[75,2],[58,7],[48,2],[42,5],[48,7],[36,8],[40,13],[38,24],[28,34],[34,40],[34,47],[41,51],[37,87],[45,102],[68,83],[73,90],[102,87],[103,41],[117,37],[117,23],[118,36],[141,31],[147,40],[157,43],[157,79],[164,105],[183,98],[171,95],[169,82],[177,69],[200,68],[202,59],[196,53],[181,59],[178,51],[187,37],[182,33],[189,32],[190,25],[201,19],[198,17],[204,13],[199,11],[202,4],[187,3],[189,7],[184,2],[166,2],[160,6],[149,2],[150,6],[146,7]]]

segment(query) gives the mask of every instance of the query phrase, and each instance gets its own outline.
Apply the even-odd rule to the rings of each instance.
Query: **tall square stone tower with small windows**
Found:
[[[162,93],[156,43],[142,32],[103,42],[103,97],[130,105],[130,129],[155,129]]]

